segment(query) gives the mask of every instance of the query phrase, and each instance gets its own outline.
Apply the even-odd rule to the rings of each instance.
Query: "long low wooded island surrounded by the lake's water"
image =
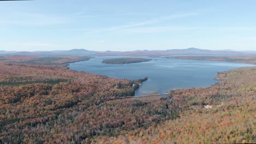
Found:
[[[140,63],[148,62],[152,59],[147,58],[112,58],[112,59],[103,59],[102,63],[106,64],[127,64],[127,63]]]

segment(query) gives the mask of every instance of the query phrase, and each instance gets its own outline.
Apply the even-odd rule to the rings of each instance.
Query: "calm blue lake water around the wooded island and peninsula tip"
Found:
[[[89,61],[71,63],[69,68],[119,79],[137,80],[148,76],[149,79],[143,82],[143,85],[135,93],[135,95],[142,95],[152,92],[165,93],[172,88],[209,87],[218,82],[218,80],[213,79],[217,71],[255,66],[252,64],[166,58],[152,58],[154,60],[149,62],[121,65],[101,63],[103,59],[118,57],[95,57]]]

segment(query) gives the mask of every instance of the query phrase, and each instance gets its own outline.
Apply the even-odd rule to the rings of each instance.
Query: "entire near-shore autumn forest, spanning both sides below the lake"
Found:
[[[132,81],[67,68],[89,57],[50,58],[0,57],[0,143],[256,142],[256,67],[170,98],[115,99]]]

